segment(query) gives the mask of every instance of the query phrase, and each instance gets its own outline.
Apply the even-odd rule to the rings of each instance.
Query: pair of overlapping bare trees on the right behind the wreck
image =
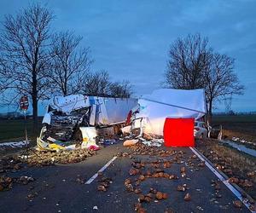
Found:
[[[205,89],[211,120],[214,103],[243,93],[244,86],[234,72],[234,64],[233,58],[209,47],[207,37],[200,34],[179,37],[169,49],[166,86]]]

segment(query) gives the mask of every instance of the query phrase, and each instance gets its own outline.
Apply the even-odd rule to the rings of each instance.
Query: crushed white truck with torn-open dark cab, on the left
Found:
[[[54,96],[44,114],[38,150],[96,149],[96,135],[118,135],[135,106],[137,99],[132,98]]]

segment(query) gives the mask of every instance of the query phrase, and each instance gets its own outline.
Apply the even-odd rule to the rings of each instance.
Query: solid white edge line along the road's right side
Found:
[[[230,184],[229,181],[225,180],[224,176],[222,176],[222,175],[218,172],[218,170],[215,170],[215,169],[212,167],[212,165],[209,164],[209,163],[206,161],[206,159],[203,158],[203,157],[201,156],[201,154],[198,153],[198,152],[195,150],[195,148],[193,148],[193,147],[189,147],[189,148],[192,150],[193,153],[195,153],[195,154],[197,155],[198,158],[200,158],[202,161],[205,162],[205,164],[207,165],[207,167],[208,167],[210,170],[212,170],[212,172],[215,174],[215,176],[218,176],[218,179],[219,179],[220,181],[222,181],[222,182],[224,183],[224,185],[226,185],[226,187],[228,187],[228,188],[230,189],[230,191],[236,195],[237,199],[240,199],[241,202],[242,202],[243,204],[245,204],[245,206],[247,207],[248,210],[250,210],[250,205],[247,203],[247,199],[243,199],[243,198],[242,198],[241,193],[236,189],[236,187],[233,187],[233,186]],[[251,211],[251,212],[255,212],[255,211],[253,211],[253,210],[250,210],[250,211]]]

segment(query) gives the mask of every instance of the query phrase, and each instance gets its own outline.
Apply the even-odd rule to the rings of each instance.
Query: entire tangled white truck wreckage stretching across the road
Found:
[[[139,99],[55,96],[49,100],[44,115],[38,149],[97,149],[96,141],[111,140],[122,133],[162,137],[166,118],[203,121],[206,113],[204,89],[156,89]],[[206,131],[209,136],[212,128]]]

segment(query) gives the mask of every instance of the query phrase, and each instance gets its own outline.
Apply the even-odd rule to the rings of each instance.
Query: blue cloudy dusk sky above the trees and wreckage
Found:
[[[161,86],[167,51],[177,37],[200,32],[213,49],[236,59],[236,73],[246,86],[234,97],[236,111],[256,110],[256,1],[40,1],[55,13],[52,26],[84,37],[95,60],[93,70],[127,79],[136,95]],[[32,1],[1,0],[0,20]],[[218,111],[223,110],[218,107]]]

